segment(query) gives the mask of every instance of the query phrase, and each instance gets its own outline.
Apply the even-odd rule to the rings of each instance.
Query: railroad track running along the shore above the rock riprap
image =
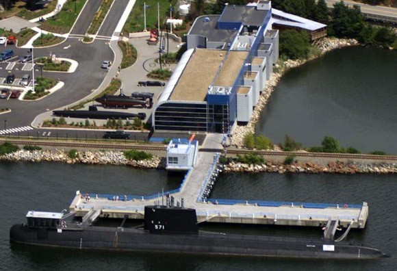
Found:
[[[166,147],[163,146],[152,146],[152,145],[142,145],[142,144],[117,144],[114,142],[112,144],[108,143],[88,143],[88,142],[51,142],[51,141],[35,141],[35,140],[3,140],[0,142],[12,142],[12,144],[25,146],[25,145],[35,145],[35,146],[48,146],[48,147],[64,147],[64,148],[75,148],[75,149],[116,149],[116,150],[140,150],[140,151],[166,151]],[[209,152],[220,152],[220,149],[200,149],[200,151]],[[227,154],[238,155],[246,153],[257,153],[259,155],[265,155],[267,157],[279,156],[288,157],[294,155],[298,157],[312,157],[312,158],[326,158],[326,159],[352,159],[352,160],[377,160],[382,161],[396,161],[397,156],[394,155],[366,155],[366,154],[350,154],[350,153],[306,153],[306,152],[284,152],[284,151],[251,151],[251,150],[233,150],[227,149]]]

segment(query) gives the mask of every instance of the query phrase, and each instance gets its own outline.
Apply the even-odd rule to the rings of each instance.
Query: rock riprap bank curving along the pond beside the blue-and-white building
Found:
[[[324,53],[331,51],[333,49],[339,49],[348,46],[356,46],[358,44],[359,42],[357,42],[357,40],[354,39],[324,38],[320,42],[320,44],[317,45],[317,47],[320,49],[320,55],[318,55],[318,57],[324,55]],[[314,58],[316,57],[313,57],[309,60],[312,60]],[[279,64],[276,65],[279,71],[277,73],[273,73],[269,81],[266,82],[266,87],[264,88],[264,91],[261,93],[261,96],[259,96],[259,101],[253,111],[251,120],[247,123],[247,125],[237,126],[236,129],[233,131],[232,144],[238,147],[242,147],[244,146],[244,136],[247,133],[255,133],[255,125],[260,118],[261,112],[268,103],[270,95],[272,94],[274,88],[277,86],[277,83],[279,83],[279,80],[281,79],[285,71],[289,70],[290,68],[295,68],[297,66],[300,66],[309,60],[287,60],[283,62],[281,65]]]

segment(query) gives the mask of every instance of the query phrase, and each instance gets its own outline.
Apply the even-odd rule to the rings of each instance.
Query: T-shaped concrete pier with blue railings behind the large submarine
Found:
[[[277,203],[265,201],[217,201],[201,202],[205,181],[212,175],[217,153],[199,153],[199,160],[183,181],[181,188],[171,194],[175,203],[183,198],[184,207],[196,209],[199,222],[276,224],[305,227],[325,227],[329,220],[339,220],[342,227],[366,227],[368,205],[321,204],[321,203]],[[117,199],[118,201],[114,200]],[[108,218],[143,219],[144,206],[166,202],[162,195],[127,196],[90,194],[87,201],[84,195],[76,194],[70,206],[77,216],[84,216],[91,209],[101,210],[101,216]]]

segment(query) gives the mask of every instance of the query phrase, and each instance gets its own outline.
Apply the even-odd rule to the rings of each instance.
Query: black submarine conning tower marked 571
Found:
[[[146,206],[144,229],[157,234],[198,234],[196,210],[164,205]]]

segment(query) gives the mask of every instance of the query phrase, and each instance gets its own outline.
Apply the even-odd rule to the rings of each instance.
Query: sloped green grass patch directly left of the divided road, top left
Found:
[[[69,0],[66,1],[62,10],[48,18],[47,21],[44,21],[40,26],[41,29],[59,33],[59,34],[66,34],[71,31],[73,24],[75,23],[77,16],[84,7],[84,4],[87,0]],[[57,2],[57,1],[53,1]]]

